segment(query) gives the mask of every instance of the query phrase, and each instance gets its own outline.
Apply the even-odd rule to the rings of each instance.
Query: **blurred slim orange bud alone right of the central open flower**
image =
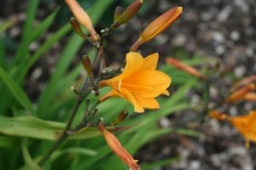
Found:
[[[173,65],[177,69],[179,69],[181,71],[185,71],[194,77],[200,77],[202,80],[207,80],[207,77],[202,75],[200,71],[196,70],[192,66],[183,64],[182,62],[178,61],[177,59],[173,59],[172,57],[167,57],[166,63],[169,65]]]

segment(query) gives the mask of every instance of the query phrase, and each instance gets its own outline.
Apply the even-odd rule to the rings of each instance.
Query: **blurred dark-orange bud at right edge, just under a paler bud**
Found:
[[[252,92],[255,89],[255,85],[253,83],[248,84],[247,86],[244,86],[240,89],[238,89],[236,92],[234,92],[233,94],[230,94],[230,96],[228,97],[228,99],[226,99],[228,102],[236,102],[240,99],[243,99],[244,96],[249,93]]]

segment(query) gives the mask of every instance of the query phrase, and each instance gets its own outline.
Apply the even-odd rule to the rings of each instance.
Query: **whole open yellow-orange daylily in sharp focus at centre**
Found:
[[[100,101],[109,97],[122,97],[134,105],[137,112],[143,112],[143,108],[159,109],[160,105],[154,98],[160,94],[169,95],[166,88],[170,86],[171,77],[155,70],[157,62],[157,53],[145,59],[135,52],[126,54],[124,72],[117,77],[99,82],[100,88],[113,88],[108,94],[103,95]]]

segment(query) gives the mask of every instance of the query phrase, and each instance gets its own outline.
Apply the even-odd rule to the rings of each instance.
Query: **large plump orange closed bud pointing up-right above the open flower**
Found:
[[[182,13],[182,7],[175,7],[160,15],[160,17],[155,19],[145,28],[141,36],[133,43],[130,50],[136,51],[141,44],[158,36],[162,31],[165,31],[167,27],[171,26],[171,24],[177,20]]]

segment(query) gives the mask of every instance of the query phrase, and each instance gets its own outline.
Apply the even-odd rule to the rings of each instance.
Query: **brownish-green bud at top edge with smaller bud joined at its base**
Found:
[[[135,0],[133,3],[129,5],[128,8],[125,9],[123,14],[119,16],[120,8],[116,8],[114,13],[114,21],[111,26],[112,29],[116,29],[118,26],[125,24],[128,20],[133,17],[133,15],[137,14],[137,11],[143,6],[143,0]]]

